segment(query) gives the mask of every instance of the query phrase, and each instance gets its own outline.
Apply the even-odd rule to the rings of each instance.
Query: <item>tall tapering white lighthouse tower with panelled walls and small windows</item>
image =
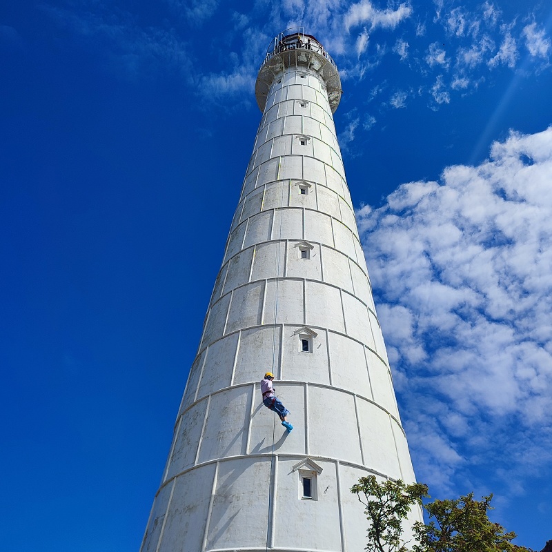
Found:
[[[143,552],[361,552],[351,486],[415,480],[335,135],[337,67],[288,30],[255,93],[263,116]],[[290,433],[262,404],[267,371]]]

